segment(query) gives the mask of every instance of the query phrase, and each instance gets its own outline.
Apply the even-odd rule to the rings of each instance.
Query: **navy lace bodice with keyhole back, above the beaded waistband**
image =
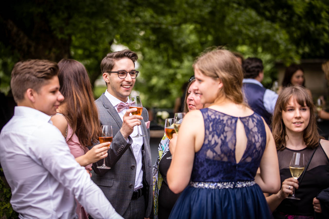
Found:
[[[254,180],[266,146],[262,117],[253,113],[234,117],[213,109],[201,109],[205,124],[203,145],[195,154],[191,181],[238,182]],[[237,163],[235,145],[237,122],[243,124],[246,149]]]

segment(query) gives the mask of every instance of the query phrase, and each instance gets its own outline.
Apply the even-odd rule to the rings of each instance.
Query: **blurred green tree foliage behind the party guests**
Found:
[[[94,84],[100,61],[123,45],[139,54],[134,90],[143,105],[172,108],[193,61],[211,46],[261,58],[268,88],[277,79],[276,61],[328,58],[329,1],[16,0],[2,3],[0,30],[4,93],[14,63],[25,59],[78,60]]]

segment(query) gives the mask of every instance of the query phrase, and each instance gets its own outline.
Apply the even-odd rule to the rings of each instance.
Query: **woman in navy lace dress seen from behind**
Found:
[[[193,67],[201,103],[211,105],[187,113],[170,141],[167,182],[184,191],[169,218],[270,218],[262,190],[279,191],[278,158],[264,119],[243,104],[240,64],[216,49]]]

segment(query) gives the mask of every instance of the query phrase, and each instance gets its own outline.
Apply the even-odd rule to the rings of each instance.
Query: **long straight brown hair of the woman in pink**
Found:
[[[67,109],[67,114],[63,114],[81,145],[92,146],[101,129],[88,72],[83,64],[72,59],[62,59],[58,66],[60,92]]]

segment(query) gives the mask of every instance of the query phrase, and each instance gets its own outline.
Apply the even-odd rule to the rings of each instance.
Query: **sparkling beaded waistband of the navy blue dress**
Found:
[[[210,188],[210,189],[223,189],[223,188],[242,188],[255,185],[255,181],[242,181],[242,182],[190,182],[190,186],[194,188]]]

